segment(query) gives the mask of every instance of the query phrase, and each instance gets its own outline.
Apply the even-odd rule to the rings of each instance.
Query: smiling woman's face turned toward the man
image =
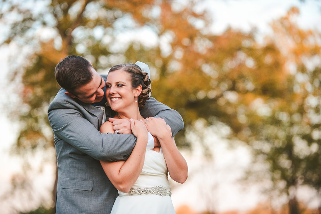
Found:
[[[130,74],[123,70],[108,73],[106,80],[106,98],[114,111],[124,111],[126,107],[135,104],[135,97],[139,95],[137,89],[132,88]]]

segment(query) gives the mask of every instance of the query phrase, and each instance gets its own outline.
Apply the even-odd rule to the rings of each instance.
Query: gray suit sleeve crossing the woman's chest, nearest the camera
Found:
[[[136,143],[132,134],[100,133],[77,107],[66,101],[51,103],[48,119],[55,134],[55,143],[65,141],[98,160],[127,159]]]

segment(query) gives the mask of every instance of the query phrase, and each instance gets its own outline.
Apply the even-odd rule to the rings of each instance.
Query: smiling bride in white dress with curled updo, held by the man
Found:
[[[187,179],[187,163],[178,151],[168,125],[161,118],[144,119],[142,109],[150,98],[151,80],[136,64],[118,64],[108,73],[106,98],[114,118],[130,121],[137,137],[133,152],[125,161],[100,161],[111,183],[117,188],[111,213],[175,213],[167,173],[179,183]],[[101,125],[100,132],[114,133],[109,121]],[[117,131],[116,131],[117,132]],[[149,134],[149,133],[150,134]],[[146,151],[152,136],[160,147]]]

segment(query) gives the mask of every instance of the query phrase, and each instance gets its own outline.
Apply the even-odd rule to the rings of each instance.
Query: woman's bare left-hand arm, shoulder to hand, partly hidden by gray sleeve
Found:
[[[138,120],[131,120],[131,129],[137,137],[132,154],[126,161],[100,161],[106,175],[117,190],[128,193],[140,175],[145,159],[148,133],[144,124]],[[113,132],[113,124],[106,122],[100,127],[100,132]]]

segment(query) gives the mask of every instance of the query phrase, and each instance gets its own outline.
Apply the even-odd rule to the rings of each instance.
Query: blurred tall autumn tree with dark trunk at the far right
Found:
[[[243,132],[248,133],[256,160],[263,158],[269,164],[273,189],[288,196],[289,213],[301,212],[298,187],[308,184],[320,193],[321,179],[321,35],[299,29],[298,13],[291,8],[271,24],[274,34],[267,43],[284,56],[285,78],[274,82],[276,96],[257,98],[248,106],[249,129]],[[259,122],[252,120],[256,116]]]

